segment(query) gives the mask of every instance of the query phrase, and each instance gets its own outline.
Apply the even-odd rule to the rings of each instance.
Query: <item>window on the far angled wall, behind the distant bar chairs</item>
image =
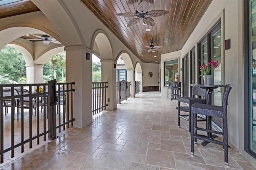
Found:
[[[164,61],[164,86],[171,86],[175,75],[179,74],[178,59]]]

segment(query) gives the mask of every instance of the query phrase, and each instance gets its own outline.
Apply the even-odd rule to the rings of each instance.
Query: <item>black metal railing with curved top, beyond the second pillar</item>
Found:
[[[122,101],[131,97],[131,82],[125,80],[116,83],[116,103],[120,104]]]

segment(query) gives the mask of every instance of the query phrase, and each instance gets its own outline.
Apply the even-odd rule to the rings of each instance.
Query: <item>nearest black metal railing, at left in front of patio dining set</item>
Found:
[[[66,125],[68,128],[70,123],[71,126],[73,125],[75,119],[73,119],[74,89],[72,85],[74,83],[56,83],[56,80],[48,81],[47,84],[0,85],[0,163],[4,162],[4,153],[11,151],[11,157],[13,158],[15,148],[21,147],[20,152],[24,152],[24,144],[29,143],[29,148],[32,148],[32,141],[36,139],[37,144],[39,144],[41,136],[46,141],[46,134],[48,134],[49,139],[53,140],[57,137],[57,128],[60,132],[61,127],[65,130]],[[60,105],[63,105],[62,115]],[[58,119],[56,119],[57,106]],[[4,120],[4,107],[6,114],[8,108],[11,108],[10,120]],[[42,115],[40,114],[40,108]],[[16,109],[17,112],[15,112]],[[28,112],[24,112],[24,109],[28,109]],[[34,111],[35,116],[33,116]],[[15,113],[17,113],[17,122],[20,121],[18,125],[14,121]],[[19,115],[20,120],[18,119]],[[33,128],[35,123],[32,122],[33,119],[36,122],[35,130]],[[24,122],[28,123],[28,127],[24,126]],[[40,125],[40,122],[43,125]],[[4,127],[8,126],[8,124],[10,124],[11,128],[10,143],[8,143],[8,139],[5,140],[9,136],[5,136],[4,133]],[[19,141],[17,141],[15,132],[20,133]],[[4,146],[4,144],[7,146]]]

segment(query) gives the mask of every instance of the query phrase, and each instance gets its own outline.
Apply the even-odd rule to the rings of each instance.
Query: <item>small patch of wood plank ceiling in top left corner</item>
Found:
[[[30,0],[0,0],[0,18],[39,11]]]

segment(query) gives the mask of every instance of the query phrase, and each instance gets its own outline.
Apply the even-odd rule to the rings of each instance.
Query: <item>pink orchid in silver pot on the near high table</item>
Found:
[[[208,61],[207,64],[200,65],[200,71],[203,73],[200,76],[204,77],[204,84],[206,85],[214,84],[214,77],[213,75],[210,75],[210,71],[212,67],[213,69],[216,69],[217,67],[219,67],[218,60],[217,61],[211,60],[211,61]]]

